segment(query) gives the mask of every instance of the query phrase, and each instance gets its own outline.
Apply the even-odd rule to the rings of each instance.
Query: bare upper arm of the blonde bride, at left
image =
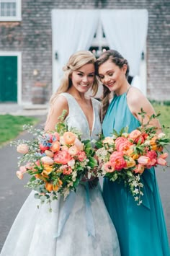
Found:
[[[68,102],[66,97],[58,96],[53,105],[50,106],[48,117],[45,122],[45,131],[54,131],[55,125],[58,123],[58,118],[61,116],[63,110],[67,110],[68,115]]]

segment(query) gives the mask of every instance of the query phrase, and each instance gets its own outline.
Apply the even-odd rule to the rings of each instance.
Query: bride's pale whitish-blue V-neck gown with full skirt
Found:
[[[82,139],[97,139],[101,132],[100,103],[91,99],[94,123],[90,134],[89,123],[83,110],[71,96],[63,93],[68,101],[68,126],[82,132]],[[71,192],[37,209],[34,191],[24,202],[9,231],[1,256],[120,256],[115,227],[109,217],[99,185],[89,189],[82,182],[76,193]]]

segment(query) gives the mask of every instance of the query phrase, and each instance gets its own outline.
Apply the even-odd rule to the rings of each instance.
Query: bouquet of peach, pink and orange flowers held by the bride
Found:
[[[94,175],[93,169],[97,160],[89,140],[81,141],[76,128],[68,129],[63,111],[55,131],[43,131],[24,125],[24,130],[33,133],[32,141],[13,141],[19,157],[17,177],[23,178],[25,173],[30,175],[27,187],[35,190],[35,198],[41,203],[58,199],[58,193],[64,196],[71,190],[76,190],[84,175]],[[24,164],[23,164],[24,163]]]

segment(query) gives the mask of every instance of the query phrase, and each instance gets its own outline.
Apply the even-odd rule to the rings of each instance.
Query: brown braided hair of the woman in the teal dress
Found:
[[[95,62],[95,70],[97,76],[99,76],[99,66],[102,65],[106,61],[112,61],[112,63],[115,63],[116,66],[119,66],[120,69],[122,69],[122,66],[124,64],[127,65],[127,71],[126,71],[126,78],[128,79],[129,75],[129,64],[128,61],[122,57],[120,53],[117,52],[117,50],[106,50],[104,53],[102,53],[101,56],[97,59]],[[110,98],[110,91],[107,87],[103,84],[103,96],[102,96],[102,120],[104,118],[104,115],[106,115],[107,108],[109,107],[109,98]]]

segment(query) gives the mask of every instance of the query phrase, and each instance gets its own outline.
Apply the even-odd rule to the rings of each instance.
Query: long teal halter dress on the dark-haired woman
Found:
[[[104,136],[110,136],[113,128],[120,131],[129,126],[129,132],[140,123],[129,110],[126,93],[115,96],[104,117]],[[144,185],[143,203],[138,206],[124,183],[104,178],[103,197],[109,215],[117,230],[122,256],[169,256],[169,242],[158,192],[154,168],[141,175]]]

